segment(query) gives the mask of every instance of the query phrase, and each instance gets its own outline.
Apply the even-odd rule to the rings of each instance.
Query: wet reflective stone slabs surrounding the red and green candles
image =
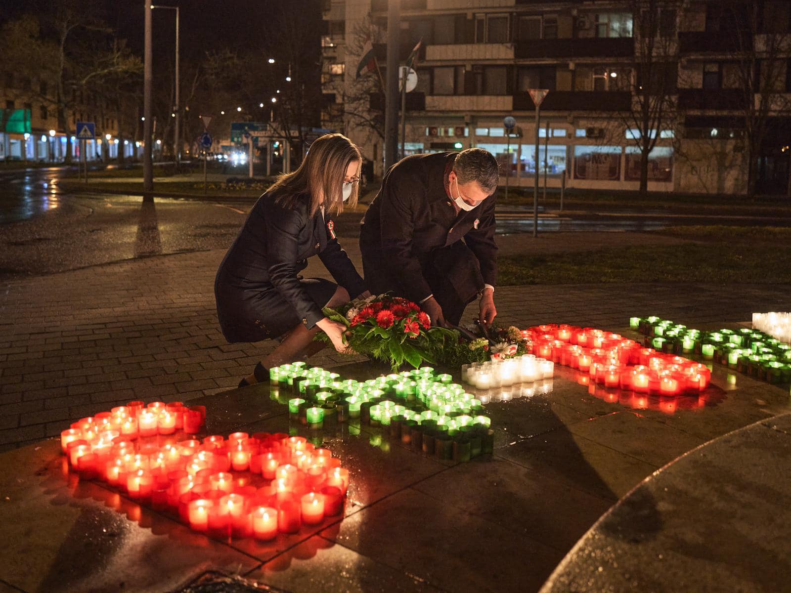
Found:
[[[363,362],[335,370],[364,379],[382,369]],[[734,382],[720,367],[694,406],[672,413],[630,398],[611,402],[563,371],[552,380],[488,392],[486,413],[498,433],[494,455],[452,463],[415,451],[381,427],[337,423],[307,429],[290,421],[273,395],[268,385],[252,386],[192,403],[206,405],[206,433],[289,432],[334,451],[350,469],[343,519],[279,534],[268,544],[206,538],[106,485],[81,482],[66,471],[59,441],[47,440],[0,455],[0,524],[8,542],[0,550],[0,580],[31,593],[172,591],[214,570],[285,591],[537,591],[575,542],[644,478],[712,436],[791,410],[787,389],[742,375]],[[787,434],[782,438],[791,442]],[[768,456],[776,445],[762,442],[739,455],[758,447]],[[706,474],[687,470],[679,481],[709,481],[714,489],[717,479],[727,481],[728,458],[706,459],[710,465],[716,460]],[[750,459],[740,463],[735,492],[755,479]],[[704,504],[706,518],[717,525],[719,507],[706,507],[718,500],[716,492],[687,487],[663,493],[661,476],[654,474],[641,488],[653,489],[657,500],[668,499],[670,507],[658,507],[668,521],[674,512],[683,515],[673,508],[686,504],[691,514]],[[745,517],[751,512],[761,513],[745,510]],[[660,530],[662,520],[651,520],[633,522],[632,531],[653,530],[635,541]],[[744,524],[757,538],[767,523]],[[660,534],[691,532],[677,518],[673,525],[678,528]],[[623,535],[611,537],[619,546],[635,545]],[[653,547],[676,550],[671,542]],[[613,563],[628,556],[610,544],[596,550]],[[760,565],[770,558],[752,561]],[[633,564],[636,571],[637,559]],[[585,574],[595,574],[586,566]],[[694,573],[695,566],[685,572]],[[615,568],[613,582],[619,583]],[[605,576],[596,576],[600,587],[580,590],[630,590],[607,589]],[[644,582],[647,589],[634,590],[667,590],[660,580]]]

